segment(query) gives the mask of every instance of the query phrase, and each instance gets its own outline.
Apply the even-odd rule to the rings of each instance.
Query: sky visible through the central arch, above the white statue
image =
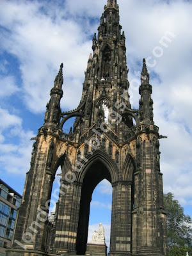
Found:
[[[106,245],[109,249],[111,230],[112,186],[104,179],[94,189],[90,205],[90,220],[88,227],[88,243],[92,241],[95,230],[99,230],[99,223],[104,227]]]

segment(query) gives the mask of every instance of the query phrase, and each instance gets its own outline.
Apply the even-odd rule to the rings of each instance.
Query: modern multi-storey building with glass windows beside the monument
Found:
[[[22,196],[0,179],[0,256],[10,248],[13,228]]]

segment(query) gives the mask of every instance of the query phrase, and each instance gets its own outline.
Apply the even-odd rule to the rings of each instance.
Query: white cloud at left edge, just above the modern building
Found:
[[[6,132],[6,135],[4,135]],[[8,173],[25,175],[29,170],[31,157],[30,139],[35,134],[32,131],[24,131],[22,119],[0,108],[0,163]],[[14,143],[15,138],[19,141]],[[6,140],[12,140],[8,143]]]

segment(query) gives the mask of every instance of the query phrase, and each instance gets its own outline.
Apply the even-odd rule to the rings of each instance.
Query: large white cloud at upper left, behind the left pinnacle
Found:
[[[2,32],[1,48],[20,61],[26,106],[33,112],[44,111],[54,77],[63,62],[66,81],[74,77],[74,81],[70,79],[70,83],[64,84],[70,93],[64,93],[63,107],[76,108],[81,99],[87,49],[91,49],[83,28],[72,19],[46,15],[37,1],[1,4],[1,26],[9,29]]]

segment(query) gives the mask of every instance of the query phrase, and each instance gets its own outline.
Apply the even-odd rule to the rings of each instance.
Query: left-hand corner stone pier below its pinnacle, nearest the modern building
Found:
[[[24,188],[22,205],[19,209],[13,248],[7,255],[25,255],[25,250],[42,251],[44,248],[44,230],[48,219],[49,207],[46,202],[51,198],[54,177],[51,168],[47,167],[50,154],[54,155],[54,148],[48,153],[51,138],[39,138],[36,148],[35,161],[29,170]],[[32,255],[32,254],[31,254]]]

